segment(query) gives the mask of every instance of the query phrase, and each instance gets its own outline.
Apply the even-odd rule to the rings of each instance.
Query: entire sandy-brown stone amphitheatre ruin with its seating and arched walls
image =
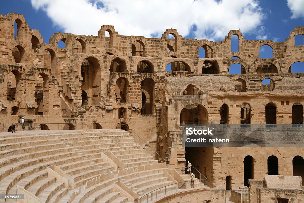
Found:
[[[170,184],[176,192],[153,201],[225,202],[227,190],[247,186],[250,200],[231,191],[226,202],[304,202],[304,146],[181,146],[189,121],[302,124],[304,73],[292,64],[304,62],[295,46],[304,27],[285,42],[245,40],[240,30],[213,42],[104,25],[97,36],[55,33],[46,44],[23,15],[0,16],[0,194],[24,195],[0,202],[150,202],[145,194]],[[272,58],[259,57],[263,45]],[[240,74],[231,74],[236,63]],[[8,133],[22,116],[26,132]],[[175,184],[189,180],[175,170],[186,160],[207,178],[203,187]]]

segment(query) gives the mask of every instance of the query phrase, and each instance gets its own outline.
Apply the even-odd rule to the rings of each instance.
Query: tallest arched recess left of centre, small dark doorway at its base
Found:
[[[100,103],[100,85],[101,85],[101,71],[100,65],[96,58],[88,57],[82,61],[81,64],[82,82],[81,90],[86,93],[86,102],[84,105],[99,105]],[[83,92],[81,92],[82,94]],[[82,101],[81,101],[82,102]]]

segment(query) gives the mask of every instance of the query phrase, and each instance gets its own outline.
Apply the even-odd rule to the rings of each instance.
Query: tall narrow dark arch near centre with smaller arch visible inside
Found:
[[[155,82],[151,78],[146,78],[141,82],[141,104],[140,114],[153,114],[154,98],[155,98]]]

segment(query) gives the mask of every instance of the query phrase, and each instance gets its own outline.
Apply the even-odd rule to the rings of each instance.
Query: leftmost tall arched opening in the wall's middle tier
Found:
[[[7,80],[7,100],[16,100],[16,94],[19,93],[19,80],[21,79],[21,74],[18,71],[11,71],[8,74]]]

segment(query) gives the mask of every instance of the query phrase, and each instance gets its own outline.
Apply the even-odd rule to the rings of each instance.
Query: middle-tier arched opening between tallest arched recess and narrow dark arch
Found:
[[[116,81],[116,87],[115,87],[115,95],[116,95],[116,102],[120,103],[127,103],[129,102],[129,95],[128,93],[128,86],[129,81],[128,79],[124,77],[120,77]]]

